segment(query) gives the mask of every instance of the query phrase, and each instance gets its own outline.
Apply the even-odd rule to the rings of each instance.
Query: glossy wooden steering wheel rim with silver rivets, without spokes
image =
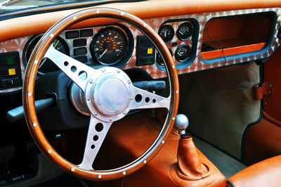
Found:
[[[53,39],[55,39],[55,37],[58,37],[58,35],[63,32],[63,30],[67,29],[77,22],[89,18],[115,18],[117,20],[122,20],[138,28],[138,30],[149,37],[153,44],[155,44],[159,53],[162,54],[164,62],[166,62],[164,63],[164,65],[166,67],[166,73],[169,79],[170,86],[170,109],[166,116],[166,120],[164,122],[162,130],[159,132],[159,135],[152,143],[150,148],[148,148],[148,150],[146,150],[143,155],[141,155],[128,165],[119,167],[117,169],[104,171],[81,169],[81,167],[79,167],[78,165],[72,164],[68,160],[65,160],[60,154],[58,154],[50,145],[50,143],[48,143],[48,140],[44,136],[44,132],[40,127],[34,105],[34,85],[37,76],[37,70],[40,60],[44,57],[44,54],[48,50],[48,46],[52,44]],[[162,148],[167,136],[169,136],[169,133],[173,128],[174,121],[176,119],[179,100],[178,90],[178,76],[174,60],[171,57],[169,49],[164,44],[164,41],[154,30],[152,30],[151,27],[146,25],[145,22],[143,22],[143,20],[141,20],[140,18],[137,18],[136,16],[124,11],[120,11],[114,8],[90,8],[84,11],[79,11],[67,16],[63,20],[60,20],[55,25],[53,25],[53,27],[51,27],[43,37],[41,37],[27,65],[27,69],[25,72],[25,81],[23,84],[22,100],[25,110],[27,127],[29,128],[35,143],[37,143],[37,146],[46,155],[46,157],[48,157],[48,159],[50,159],[58,167],[64,169],[70,174],[73,174],[74,176],[89,180],[110,180],[117,179],[136,172],[147,162],[149,162],[152,157],[157,154],[160,148]]]

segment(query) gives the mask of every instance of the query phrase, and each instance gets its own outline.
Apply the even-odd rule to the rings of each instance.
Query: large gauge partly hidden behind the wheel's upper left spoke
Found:
[[[29,46],[27,46],[26,54],[25,54],[25,62],[27,63],[28,60],[30,60],[30,56],[32,52],[35,49],[35,46],[37,45],[38,41],[41,39],[41,36],[35,37],[34,39],[31,40]],[[53,40],[53,47],[60,51],[61,53],[66,54],[67,56],[70,55],[70,49],[68,48],[66,42],[61,38],[57,37],[56,39]],[[25,64],[26,65],[26,64]],[[38,67],[38,72],[39,74],[43,75],[47,72],[54,72],[59,70],[59,68],[48,58],[44,58],[41,60],[39,67]]]

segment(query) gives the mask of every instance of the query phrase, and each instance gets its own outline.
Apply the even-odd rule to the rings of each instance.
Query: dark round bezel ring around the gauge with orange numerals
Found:
[[[102,61],[98,60],[95,56],[95,51],[93,50],[94,49],[94,46],[96,44],[96,40],[98,39],[98,37],[100,36],[101,33],[107,31],[107,30],[115,30],[117,32],[119,32],[122,37],[124,38],[124,42],[125,42],[125,46],[124,46],[124,52],[122,53],[121,55],[121,58],[119,58],[117,61],[113,62],[113,63],[103,63]],[[93,36],[93,40],[91,41],[91,44],[90,44],[90,53],[91,53],[91,56],[92,56],[92,59],[94,62],[98,63],[98,64],[101,64],[101,65],[117,65],[119,64],[120,62],[124,61],[128,55],[126,55],[126,53],[129,51],[129,37],[127,36],[127,34],[125,34],[126,32],[122,29],[119,29],[118,27],[112,27],[112,26],[109,26],[109,27],[104,27],[102,29],[100,29],[94,36]]]

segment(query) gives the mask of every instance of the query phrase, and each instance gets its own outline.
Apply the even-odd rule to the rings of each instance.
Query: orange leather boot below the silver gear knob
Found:
[[[200,161],[191,137],[178,141],[178,169],[188,179],[202,179],[209,169]]]

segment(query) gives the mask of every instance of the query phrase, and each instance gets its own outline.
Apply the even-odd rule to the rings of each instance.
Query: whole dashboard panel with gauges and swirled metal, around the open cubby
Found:
[[[268,11],[276,13],[277,18],[277,22],[274,25],[273,37],[270,41],[270,47],[268,47],[267,49],[263,48],[262,50],[254,51],[253,53],[242,53],[239,56],[226,56],[223,59],[213,59],[211,63],[202,59],[201,48],[202,37],[204,34],[204,25],[206,25],[207,22],[211,20],[211,18],[220,18],[231,15],[245,15],[249,13],[263,13]],[[161,18],[149,18],[145,19],[144,21],[148,25],[150,25],[150,27],[152,27],[156,32],[158,32],[159,35],[164,39],[166,46],[171,51],[178,74],[196,72],[200,70],[211,69],[214,67],[223,67],[226,65],[244,63],[251,60],[268,58],[277,49],[277,47],[280,46],[281,43],[280,39],[277,37],[277,32],[280,28],[280,8],[257,8],[240,11],[221,11],[213,13],[175,15]],[[139,65],[136,63],[139,58],[137,41],[138,37],[143,34],[136,30],[136,28],[128,25],[126,22],[119,22],[117,24],[104,25],[99,27],[83,27],[81,29],[67,30],[60,34],[59,40],[63,40],[61,41],[61,43],[65,42],[65,44],[68,46],[71,57],[77,58],[84,63],[93,65],[94,67],[98,68],[102,65],[106,65],[106,63],[98,62],[97,58],[100,56],[104,56],[107,51],[103,49],[105,51],[104,52],[98,49],[98,51],[100,50],[101,53],[95,56],[95,47],[92,43],[93,40],[95,40],[95,37],[100,36],[99,34],[103,30],[109,30],[110,28],[113,28],[113,30],[118,30],[119,33],[123,33],[121,34],[124,38],[122,41],[124,41],[125,43],[127,41],[128,44],[124,46],[124,49],[120,49],[121,51],[124,50],[122,51],[122,55],[125,55],[124,58],[113,60],[115,62],[110,63],[109,65],[114,65],[121,68],[122,70],[134,67],[142,68],[143,70],[148,72],[152,78],[155,79],[166,77],[164,66],[161,62],[159,62],[161,61],[161,57],[157,56],[157,51],[153,51],[155,50],[153,49],[153,46],[151,47],[151,49],[150,47],[145,49],[148,55],[152,55],[152,61],[148,60],[148,65]],[[93,32],[91,32],[91,34],[84,35],[83,33],[86,33],[85,31]],[[67,37],[67,33],[72,33],[74,35],[75,33],[78,33],[78,36]],[[0,43],[0,53],[18,51],[20,57],[20,71],[22,78],[25,74],[25,58],[26,51],[28,49],[27,46],[28,44],[30,44],[30,42],[32,42],[32,39],[36,37],[37,36],[21,37],[18,39],[11,39]],[[77,42],[80,43],[78,44]],[[93,45],[92,53],[91,44]],[[21,86],[2,89],[0,90],[0,93],[17,91],[20,89]]]

